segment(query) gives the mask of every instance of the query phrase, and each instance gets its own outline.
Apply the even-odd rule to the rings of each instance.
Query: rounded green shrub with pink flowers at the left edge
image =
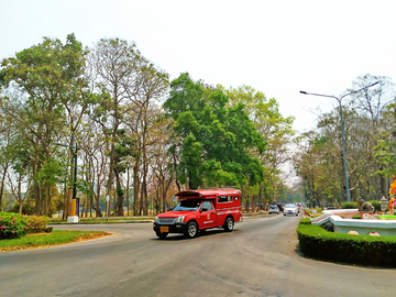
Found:
[[[18,239],[28,232],[28,218],[15,212],[0,212],[0,240]]]

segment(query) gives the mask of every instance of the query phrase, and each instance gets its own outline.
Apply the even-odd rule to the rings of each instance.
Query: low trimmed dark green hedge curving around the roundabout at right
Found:
[[[396,267],[396,237],[350,235],[300,222],[299,249],[307,257],[365,266]]]

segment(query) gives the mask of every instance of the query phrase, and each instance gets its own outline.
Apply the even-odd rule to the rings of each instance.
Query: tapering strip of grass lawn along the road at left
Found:
[[[28,249],[48,248],[72,242],[86,241],[111,235],[103,231],[62,231],[28,234],[20,239],[0,240],[0,253]]]

